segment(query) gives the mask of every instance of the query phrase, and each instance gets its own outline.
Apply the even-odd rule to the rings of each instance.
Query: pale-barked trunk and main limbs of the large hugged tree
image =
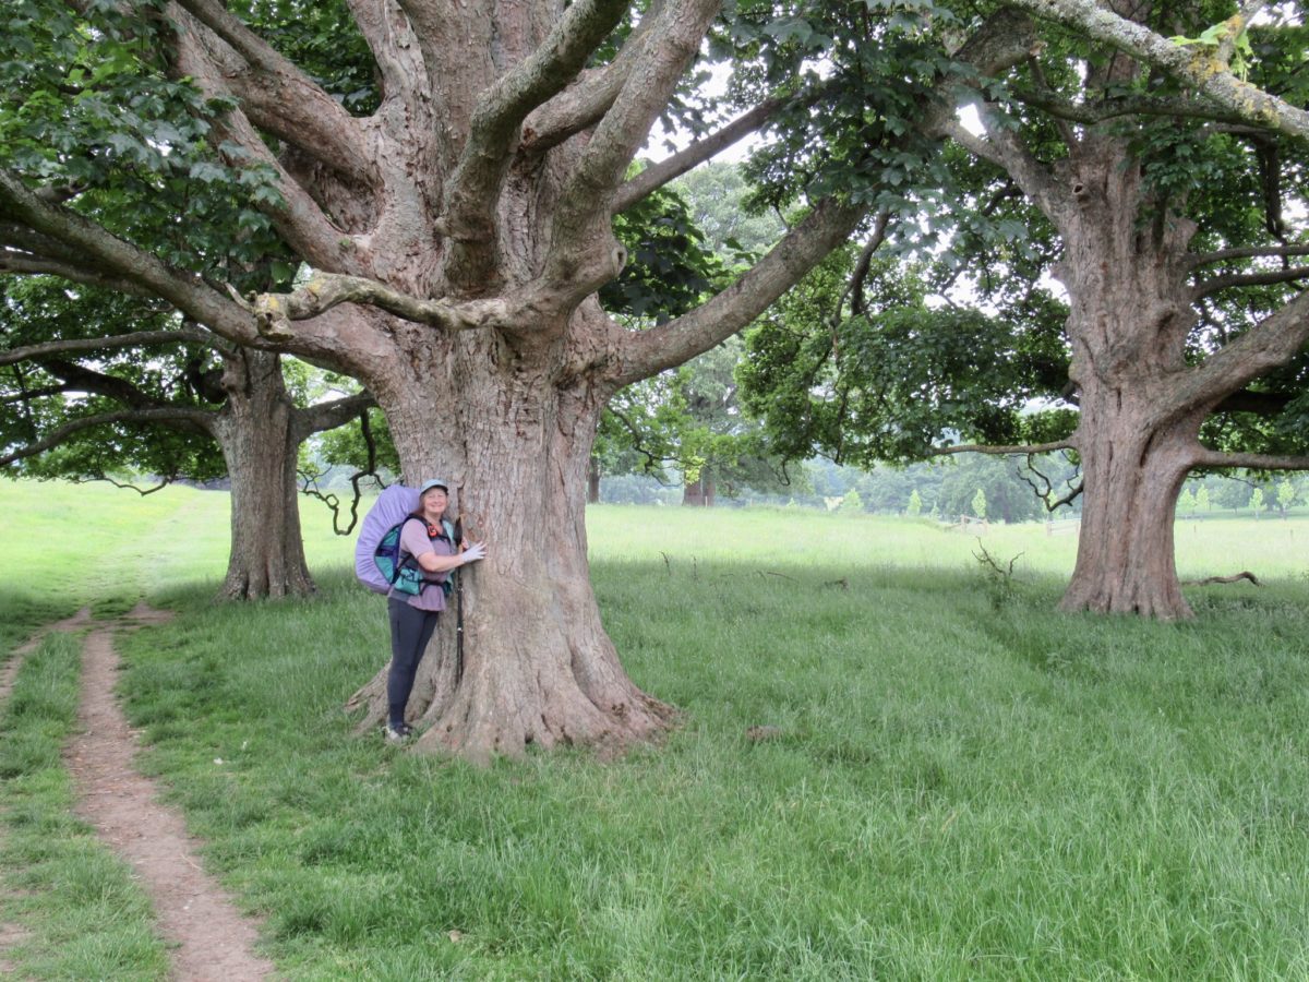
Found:
[[[386,414],[404,478],[450,482],[453,508],[486,538],[488,558],[461,572],[462,678],[450,618],[423,661],[408,707],[427,727],[420,749],[483,761],[653,738],[672,710],[627,677],[589,584],[583,509],[601,407],[622,385],[745,327],[843,242],[864,208],[817,203],[704,306],[632,331],[594,299],[626,258],[613,213],[653,190],[624,189],[628,166],[717,0],[651,4],[613,63],[590,69],[626,5],[350,0],[382,80],[381,107],[367,119],[327,107],[312,80],[220,5],[185,7],[174,8],[185,25],[174,64],[207,94],[243,100],[215,136],[278,169],[284,194],[270,217],[317,275],[288,296],[224,295],[0,173],[0,219],[30,233],[24,246],[0,224],[10,262],[67,261],[73,250],[97,276],[164,296],[247,347],[348,372]],[[990,73],[1030,46],[1022,18],[1001,14],[961,58]],[[953,81],[939,94],[925,118],[953,111]],[[313,106],[325,113],[301,119]],[[280,427],[280,410],[267,412],[267,428]],[[384,674],[352,700],[364,725],[385,711]]]

